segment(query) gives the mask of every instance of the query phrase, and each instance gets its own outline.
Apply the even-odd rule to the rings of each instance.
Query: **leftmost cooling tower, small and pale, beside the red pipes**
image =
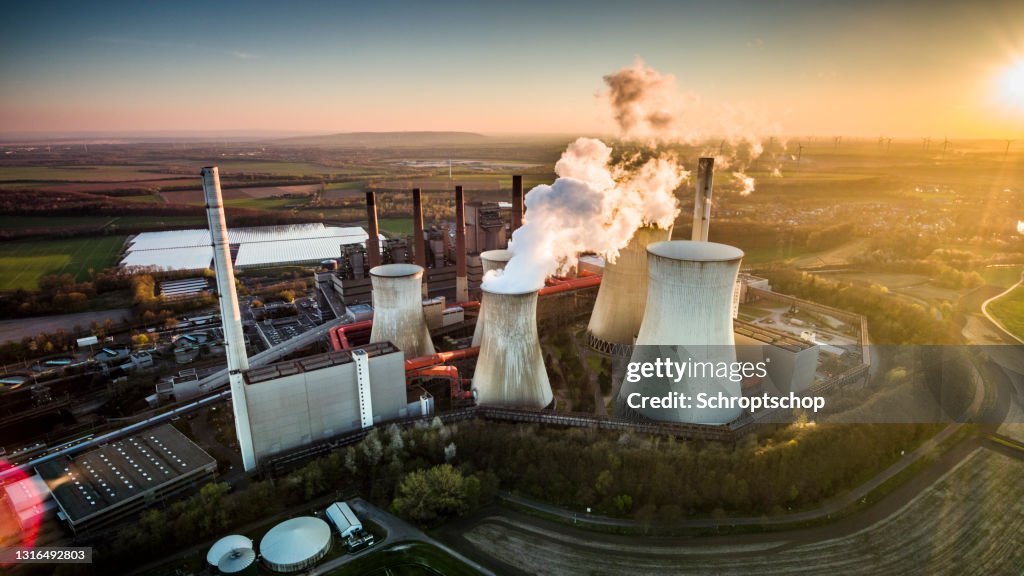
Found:
[[[406,358],[434,354],[423,316],[423,269],[416,264],[384,264],[371,269],[374,285],[374,327],[370,341],[391,342]]]

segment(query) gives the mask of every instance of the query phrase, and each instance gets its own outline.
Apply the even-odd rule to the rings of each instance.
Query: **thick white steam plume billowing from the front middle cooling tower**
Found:
[[[675,190],[687,172],[675,158],[655,157],[628,169],[594,138],[570,143],[555,164],[558,178],[526,194],[522,227],[512,235],[504,272],[487,273],[495,292],[538,290],[551,275],[574,265],[581,252],[613,261],[644,224],[672,227],[679,215]]]

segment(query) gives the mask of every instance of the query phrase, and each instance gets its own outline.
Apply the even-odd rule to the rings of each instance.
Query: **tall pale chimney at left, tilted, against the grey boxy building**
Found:
[[[220,322],[224,331],[227,352],[227,381],[231,387],[231,409],[234,412],[234,431],[242,450],[242,464],[246,471],[256,468],[256,451],[253,448],[252,427],[249,423],[249,405],[246,402],[246,383],[242,373],[249,369],[246,340],[242,333],[242,314],[239,295],[234,291],[234,268],[231,265],[231,246],[227,241],[227,222],[224,218],[224,200],[220,194],[220,174],[216,166],[203,168],[203,196],[206,199],[206,218],[210,225],[213,245],[213,270],[217,275],[217,299],[220,302]]]

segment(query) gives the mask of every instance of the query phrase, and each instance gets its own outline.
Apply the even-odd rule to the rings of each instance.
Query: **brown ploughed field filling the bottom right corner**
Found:
[[[1021,475],[1021,460],[979,449],[888,518],[824,539],[631,545],[502,518],[466,539],[528,574],[749,574],[753,559],[759,574],[1012,574],[1024,565]]]

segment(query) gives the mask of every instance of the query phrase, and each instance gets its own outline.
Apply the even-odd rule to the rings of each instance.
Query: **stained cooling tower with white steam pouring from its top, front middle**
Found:
[[[484,287],[480,338],[473,387],[483,406],[544,408],[551,404],[551,383],[537,335],[538,292],[503,293]]]

